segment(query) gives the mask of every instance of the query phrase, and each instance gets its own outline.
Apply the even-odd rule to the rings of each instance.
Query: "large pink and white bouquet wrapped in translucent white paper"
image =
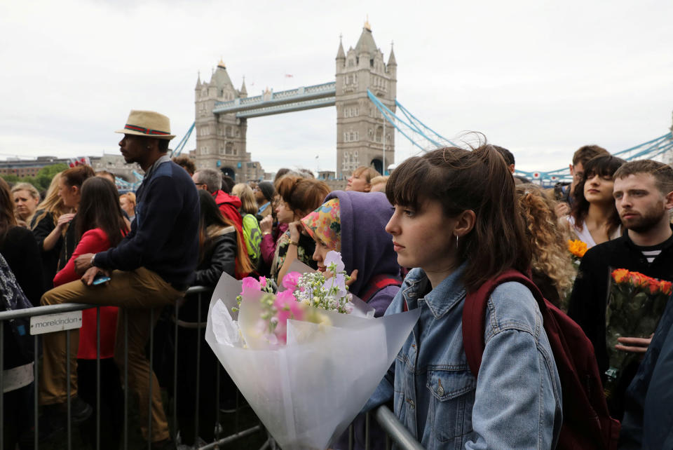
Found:
[[[276,294],[266,280],[224,274],[210,301],[206,341],[285,450],[324,449],[341,435],[419,318],[372,318],[333,262],[332,277],[291,272]]]

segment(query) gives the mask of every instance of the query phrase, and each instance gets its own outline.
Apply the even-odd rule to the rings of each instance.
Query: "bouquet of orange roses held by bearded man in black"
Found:
[[[609,369],[605,372],[606,397],[618,385],[623,370],[635,358],[636,353],[615,348],[622,336],[648,337],[656,329],[673,291],[673,284],[656,280],[639,272],[618,268],[611,273],[606,310],[606,343]]]

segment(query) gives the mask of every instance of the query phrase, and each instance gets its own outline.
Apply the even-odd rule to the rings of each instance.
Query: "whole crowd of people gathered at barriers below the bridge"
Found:
[[[173,376],[182,444],[212,441],[215,411],[231,403],[235,386],[223,371],[222,395],[202,388],[196,411],[197,365],[199,385],[210,386],[219,363],[204,339],[210,295],[185,296],[186,290],[212,290],[223,273],[278,283],[295,261],[326,271],[325,257],[334,250],[350,275],[350,291],[376,317],[421,310],[363,413],[392,403],[426,448],[552,449],[568,443],[572,402],[566,396],[573,391],[545,331],[541,310],[547,306],[538,289],[549,308],[581,328],[597,383],[604,383],[611,271],[673,280],[673,169],[626,162],[597,145],[578,149],[572,182],[553,189],[515,177],[512,152],[482,143],[408,158],[385,177],[361,167],[344,191],[332,191],[307,170],[281,169],[273,181],[236,184],[219,170],[196,168],[189,157],[171,161],[170,123],[152,111],[131,111],[117,132],[125,161],[145,172],[135,193],[120,195],[114,175],[87,165],[55,175],[42,195],[30,184],[0,179],[3,295],[23,296],[32,306],[100,306],[83,311],[82,327],[70,339],[65,332],[43,336],[40,439],[64,428],[68,408],[72,423],[81,424],[92,420],[100,402],[102,446],[118,448],[126,372],[137,426],[152,448],[176,445],[161,396]],[[586,245],[581,259],[569,252],[569,240]],[[465,304],[508,271],[536,289],[517,281],[492,289],[480,315],[477,373],[465,350]],[[15,305],[4,301],[5,309]],[[177,374],[172,360],[166,368],[161,358],[151,366],[147,357],[149,337],[162,320],[169,323],[165,329],[178,325]],[[672,323],[669,302],[652,336],[619,338],[617,350],[642,355],[606,403],[622,422],[620,448],[673,447]],[[32,367],[40,355],[23,350],[20,341],[15,324],[7,323],[1,349],[6,448],[29,448],[36,425]],[[365,448],[366,435],[369,448],[383,448],[383,430],[372,423],[365,433],[364,416],[353,427],[354,448]],[[83,429],[93,442],[91,428]],[[348,440],[346,432],[332,447],[347,449]],[[599,440],[592,448],[608,447]]]

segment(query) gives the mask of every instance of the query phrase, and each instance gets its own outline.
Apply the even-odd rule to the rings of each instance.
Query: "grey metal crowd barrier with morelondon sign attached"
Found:
[[[202,287],[202,286],[194,286],[190,287],[186,295],[193,295],[193,294],[198,294],[198,306],[197,306],[197,317],[201,317],[201,300],[202,300],[202,294],[204,292],[212,292],[211,288],[207,287]],[[4,327],[5,322],[8,320],[13,320],[17,318],[32,318],[36,316],[42,316],[42,315],[51,315],[51,314],[57,314],[57,313],[69,313],[72,311],[83,311],[85,309],[89,308],[96,308],[97,310],[97,332],[96,332],[96,347],[97,347],[97,355],[96,355],[96,411],[95,411],[95,429],[96,429],[96,439],[95,439],[95,448],[96,450],[100,450],[100,408],[101,408],[101,402],[100,402],[100,306],[97,305],[88,305],[88,304],[60,304],[60,305],[52,305],[52,306],[37,306],[34,308],[29,308],[29,309],[22,309],[22,310],[16,310],[16,311],[0,311],[0,387],[4,388]],[[122,444],[123,444],[123,449],[126,450],[129,448],[129,432],[128,432],[128,421],[129,421],[129,411],[128,411],[128,406],[129,406],[129,400],[128,400],[128,315],[123,315],[124,318],[124,336],[122,339],[124,339],[124,370],[123,370],[123,439],[122,439]],[[177,367],[178,367],[178,329],[179,329],[179,302],[175,304],[175,312],[173,315],[173,332],[174,332],[174,345],[175,345],[175,353],[173,355],[173,398],[172,398],[172,425],[173,425],[173,430],[172,430],[172,438],[175,439],[177,435],[177,430],[179,429],[178,421],[177,421]],[[184,322],[182,322],[184,325]],[[154,309],[150,310],[150,322],[148,326],[152,326],[154,324]],[[194,417],[194,440],[195,443],[198,441],[198,430],[199,430],[199,393],[200,393],[200,357],[201,357],[201,341],[200,341],[200,333],[202,329],[205,329],[205,322],[201,322],[200,320],[196,323],[190,323],[189,328],[193,328],[197,330],[199,339],[196,340],[196,369],[195,369],[195,376],[196,376],[196,395],[195,395],[195,417]],[[67,433],[67,449],[72,449],[72,423],[71,423],[71,395],[70,395],[70,364],[69,364],[69,359],[70,359],[70,333],[71,332],[79,332],[79,329],[68,329],[66,331],[66,361],[67,361],[67,425],[66,425],[66,433]],[[33,376],[34,376],[34,449],[39,449],[39,339],[40,339],[41,334],[34,334],[33,336],[33,347],[34,347],[34,367],[33,367]],[[120,339],[121,336],[116,336],[116,339]],[[152,383],[151,383],[151,374],[154,371],[154,333],[149,334],[149,364],[150,367],[153,369],[150,371],[150,379],[149,379],[149,398],[148,398],[148,413],[149,413],[149,420],[148,420],[148,432],[147,435],[151,437],[151,432],[152,432],[152,416],[151,416],[151,398],[152,398]],[[240,394],[238,393],[238,389],[236,390],[236,411],[235,411],[235,416],[233,418],[235,422],[235,432],[233,432],[232,435],[226,436],[226,437],[219,437],[219,428],[221,428],[220,424],[222,423],[221,420],[221,413],[219,409],[219,394],[220,394],[220,376],[219,376],[219,371],[221,370],[221,364],[217,364],[217,376],[216,376],[216,386],[215,386],[215,396],[216,396],[216,418],[217,418],[217,431],[215,432],[215,440],[213,442],[210,442],[208,444],[205,444],[204,446],[198,447],[199,450],[209,450],[209,449],[217,449],[220,448],[226,444],[231,444],[232,442],[235,442],[238,439],[241,439],[243,437],[246,437],[248,435],[252,435],[256,432],[265,432],[263,426],[261,423],[258,425],[254,425],[250,428],[247,428],[245,430],[239,430],[239,420],[240,420],[240,411],[243,407],[241,407],[238,403],[238,398],[240,397]],[[390,440],[392,439],[397,446],[401,449],[405,450],[417,450],[417,449],[422,449],[423,447],[419,442],[416,442],[414,437],[409,433],[409,431],[405,428],[400,421],[397,420],[397,418],[394,416],[394,414],[390,411],[390,409],[386,407],[380,407],[373,413],[376,417],[376,420],[381,423],[381,426],[383,429],[386,431],[386,449],[390,449]],[[365,435],[366,435],[366,441],[367,444],[365,446],[365,450],[368,450],[370,448],[369,445],[369,421],[370,421],[370,416],[371,414],[367,414],[367,419],[366,419],[366,426],[365,426]],[[183,424],[184,425],[184,424]],[[5,421],[4,421],[4,395],[0,395],[0,450],[5,450],[4,449],[4,432],[5,432]],[[273,441],[273,438],[271,438],[271,435],[267,434],[267,439],[266,442],[264,443],[263,446],[261,446],[260,450],[263,449],[276,449],[278,448],[276,442]],[[349,432],[349,450],[353,449],[353,428],[350,428]],[[151,442],[147,442],[148,449],[151,450]],[[196,448],[196,447],[195,447]],[[13,450],[13,449],[8,449],[8,450]]]

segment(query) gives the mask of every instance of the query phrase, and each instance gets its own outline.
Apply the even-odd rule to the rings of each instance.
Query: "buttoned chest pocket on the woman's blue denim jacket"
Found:
[[[430,405],[428,425],[433,430],[433,442],[442,448],[454,442],[461,449],[466,437],[473,432],[472,407],[475,404],[477,379],[469,369],[428,369]]]

